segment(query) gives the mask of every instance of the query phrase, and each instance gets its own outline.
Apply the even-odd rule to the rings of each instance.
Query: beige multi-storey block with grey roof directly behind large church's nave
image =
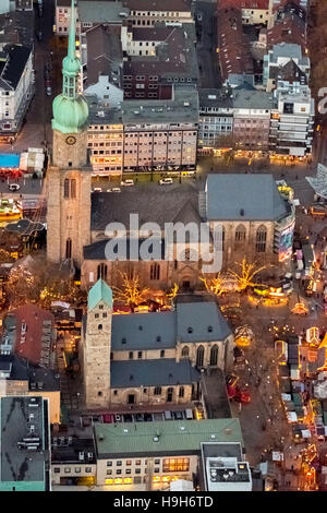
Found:
[[[171,100],[124,100],[124,170],[195,169],[198,95],[174,88]]]

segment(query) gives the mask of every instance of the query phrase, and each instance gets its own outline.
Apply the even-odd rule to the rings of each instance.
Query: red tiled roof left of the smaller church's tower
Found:
[[[25,358],[31,363],[41,363],[41,351],[50,354],[52,350],[52,334],[55,327],[55,317],[52,313],[35,305],[24,305],[11,312],[17,320],[16,324],[16,339],[14,353],[15,355]],[[47,324],[44,321],[49,321],[50,330],[47,330]],[[22,331],[22,324],[26,323],[25,334]],[[51,343],[47,347],[45,337],[46,331],[51,332]]]

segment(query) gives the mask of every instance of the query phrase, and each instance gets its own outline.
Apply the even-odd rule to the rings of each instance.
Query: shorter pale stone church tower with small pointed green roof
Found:
[[[86,408],[105,408],[110,401],[112,291],[99,279],[89,290],[82,336],[82,368]]]

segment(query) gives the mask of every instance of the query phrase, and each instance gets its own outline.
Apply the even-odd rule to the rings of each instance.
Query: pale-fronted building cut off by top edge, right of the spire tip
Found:
[[[157,22],[194,23],[189,0],[166,0],[165,4],[156,0],[125,0],[133,26],[146,27]]]

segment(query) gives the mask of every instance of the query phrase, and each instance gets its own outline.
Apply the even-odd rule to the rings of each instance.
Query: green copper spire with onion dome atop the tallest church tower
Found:
[[[52,104],[52,128],[62,133],[76,133],[87,123],[88,106],[85,98],[78,94],[80,59],[75,50],[76,17],[74,0],[71,7],[71,24],[69,33],[68,55],[62,61],[62,93]]]

